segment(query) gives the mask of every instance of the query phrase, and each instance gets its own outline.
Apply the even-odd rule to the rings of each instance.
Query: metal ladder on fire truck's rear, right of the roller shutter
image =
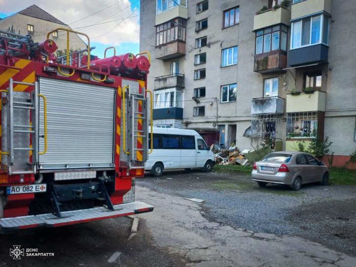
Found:
[[[130,86],[125,86],[124,90],[124,109],[125,109],[125,90],[127,89],[126,96],[128,98],[127,106],[127,125],[128,125],[128,151],[126,151],[125,141],[126,133],[124,126],[124,153],[129,155],[130,169],[143,169],[144,163],[148,159],[148,105],[147,98],[145,97],[146,90],[143,87],[141,94],[132,93]],[[141,106],[142,108],[139,108]],[[125,125],[125,110],[124,125]],[[141,156],[139,156],[141,155]]]

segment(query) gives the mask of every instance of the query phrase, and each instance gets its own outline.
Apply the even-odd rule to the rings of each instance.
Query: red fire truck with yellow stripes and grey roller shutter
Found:
[[[67,54],[56,58],[58,31]],[[70,32],[85,51],[69,53]],[[0,31],[1,233],[153,211],[134,200],[152,152],[150,54],[107,49],[91,55],[67,28],[41,43]]]

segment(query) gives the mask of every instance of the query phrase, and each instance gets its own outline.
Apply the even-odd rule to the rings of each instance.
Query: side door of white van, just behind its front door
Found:
[[[181,168],[195,168],[197,161],[194,135],[181,135]]]

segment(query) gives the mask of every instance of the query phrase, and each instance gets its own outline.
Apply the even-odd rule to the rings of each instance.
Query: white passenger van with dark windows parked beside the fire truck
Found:
[[[214,163],[214,153],[196,131],[153,128],[153,152],[146,161],[145,170],[154,176],[161,176],[163,169],[202,168],[209,172]]]

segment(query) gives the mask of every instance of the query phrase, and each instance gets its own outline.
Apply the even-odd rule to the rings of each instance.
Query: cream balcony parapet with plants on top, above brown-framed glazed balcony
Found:
[[[285,24],[289,26],[290,13],[289,10],[280,7],[278,9],[270,9],[255,15],[253,21],[253,30],[269,27],[276,24]]]

